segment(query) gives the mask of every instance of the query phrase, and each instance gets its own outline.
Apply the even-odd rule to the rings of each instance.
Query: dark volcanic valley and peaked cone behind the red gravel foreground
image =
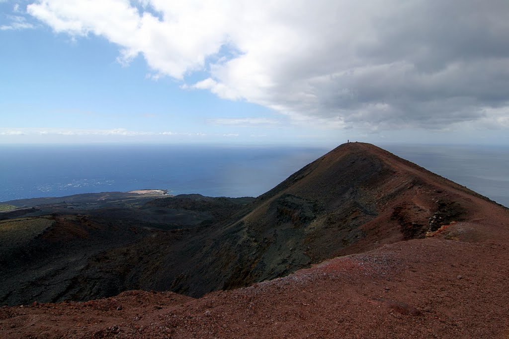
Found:
[[[0,221],[2,241],[20,239],[2,252],[0,303],[134,289],[202,296],[423,238],[495,206],[362,143],[337,147],[251,201],[184,195],[95,209],[34,206],[22,219]]]

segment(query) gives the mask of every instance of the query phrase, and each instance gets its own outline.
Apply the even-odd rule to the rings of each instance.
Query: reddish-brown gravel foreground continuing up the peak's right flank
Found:
[[[345,256],[199,299],[130,291],[88,302],[2,307],[0,337],[509,338],[508,210],[418,166],[394,162],[389,153],[371,151],[393,162],[394,180],[413,172],[420,184],[408,187],[412,194],[398,192],[406,201],[398,199],[365,223],[370,236],[338,253]],[[392,232],[387,220],[411,225],[433,195],[461,201],[468,208],[464,220],[425,238],[378,247],[362,243]],[[399,209],[405,203],[421,207]]]

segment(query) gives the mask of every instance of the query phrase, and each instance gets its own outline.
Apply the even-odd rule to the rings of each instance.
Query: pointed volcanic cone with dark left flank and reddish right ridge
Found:
[[[201,296],[422,238],[451,221],[489,217],[485,203],[492,204],[374,145],[343,144],[202,235],[204,246],[187,251],[192,269],[178,267],[185,273],[173,290]]]

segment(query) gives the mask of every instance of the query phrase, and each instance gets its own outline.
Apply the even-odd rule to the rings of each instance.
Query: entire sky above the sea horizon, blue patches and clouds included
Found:
[[[507,0],[0,0],[0,144],[509,145],[507,18]]]

